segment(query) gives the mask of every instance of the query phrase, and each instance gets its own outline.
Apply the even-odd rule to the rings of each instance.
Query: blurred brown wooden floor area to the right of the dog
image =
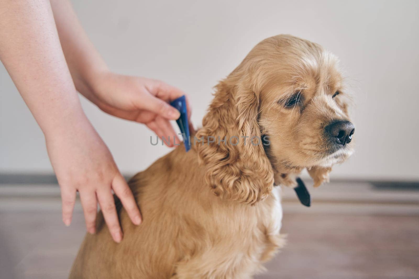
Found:
[[[419,217],[285,214],[287,246],[257,278],[419,278]]]

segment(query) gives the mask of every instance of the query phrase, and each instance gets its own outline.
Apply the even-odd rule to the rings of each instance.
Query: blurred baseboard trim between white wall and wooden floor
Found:
[[[304,207],[293,189],[281,187],[284,213],[419,215],[419,183],[336,179],[313,188],[312,182],[305,180],[312,206]],[[0,174],[0,213],[60,210],[60,191],[54,175]],[[80,210],[77,206],[76,211]]]

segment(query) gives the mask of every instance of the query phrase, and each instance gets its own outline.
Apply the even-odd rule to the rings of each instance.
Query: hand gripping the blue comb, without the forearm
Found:
[[[169,122],[178,119],[180,114],[168,104],[185,95],[181,90],[155,79],[111,72],[97,74],[91,84],[92,90],[86,97],[104,112],[144,123],[160,139],[170,136],[170,147],[175,145],[175,141],[176,145],[181,142]],[[190,123],[191,108],[188,101],[186,105]]]

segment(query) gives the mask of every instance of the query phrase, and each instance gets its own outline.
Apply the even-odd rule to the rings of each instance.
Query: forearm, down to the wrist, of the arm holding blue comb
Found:
[[[108,71],[106,63],[95,49],[69,0],[51,0],[52,12],[57,25],[65,59],[67,60],[76,89],[98,105],[93,94],[98,74]]]

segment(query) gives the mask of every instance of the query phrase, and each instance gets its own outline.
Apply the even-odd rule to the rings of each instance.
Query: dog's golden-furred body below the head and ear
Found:
[[[98,233],[86,235],[70,278],[230,278],[259,269],[279,244],[277,196],[256,206],[221,200],[194,148],[176,148],[129,184],[142,224],[117,205],[124,230],[117,244],[99,214]]]

